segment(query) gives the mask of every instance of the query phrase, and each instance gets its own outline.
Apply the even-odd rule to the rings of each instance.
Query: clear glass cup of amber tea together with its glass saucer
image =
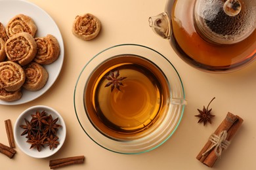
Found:
[[[181,121],[181,78],[160,53],[137,44],[108,48],[85,65],[75,88],[75,110],[85,133],[114,152],[160,146]]]

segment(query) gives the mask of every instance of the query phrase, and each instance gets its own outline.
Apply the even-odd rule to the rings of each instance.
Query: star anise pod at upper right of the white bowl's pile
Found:
[[[43,134],[54,134],[56,135],[56,132],[61,125],[56,124],[58,121],[58,118],[53,120],[53,116],[50,114],[48,120],[42,120],[43,124],[45,124],[45,129],[43,129]]]

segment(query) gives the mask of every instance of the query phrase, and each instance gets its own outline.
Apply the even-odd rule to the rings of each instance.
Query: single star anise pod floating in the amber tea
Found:
[[[105,76],[107,80],[110,80],[105,87],[108,87],[111,85],[111,92],[116,88],[117,90],[120,91],[120,86],[123,86],[123,83],[121,83],[121,80],[124,80],[127,77],[119,77],[119,70],[117,71],[110,71],[110,74],[108,76]]]

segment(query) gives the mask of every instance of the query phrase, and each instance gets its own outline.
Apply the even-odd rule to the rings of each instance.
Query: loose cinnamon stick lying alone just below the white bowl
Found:
[[[49,161],[49,167],[51,169],[56,169],[59,167],[64,167],[67,165],[73,165],[77,163],[83,163],[85,161],[85,156],[72,156],[68,158],[60,158],[56,160]]]

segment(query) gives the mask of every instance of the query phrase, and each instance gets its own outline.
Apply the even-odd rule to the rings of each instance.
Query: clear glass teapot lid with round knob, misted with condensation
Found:
[[[196,0],[195,27],[203,39],[215,44],[243,41],[256,27],[254,0]]]

